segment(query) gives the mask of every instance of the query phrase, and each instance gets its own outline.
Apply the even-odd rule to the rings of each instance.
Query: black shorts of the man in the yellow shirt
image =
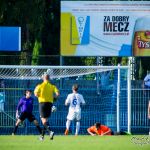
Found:
[[[39,112],[41,118],[48,118],[51,115],[52,103],[42,102],[39,103]]]

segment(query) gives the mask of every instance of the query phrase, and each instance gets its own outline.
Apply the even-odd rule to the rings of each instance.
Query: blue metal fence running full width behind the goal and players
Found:
[[[58,134],[63,134],[65,130],[65,121],[68,108],[64,106],[67,94],[71,92],[71,85],[75,81],[66,80],[65,84],[61,87],[61,96],[56,103],[58,112],[53,113],[51,116],[51,127],[57,131]],[[80,93],[85,96],[87,105],[83,108],[83,115],[81,121],[81,134],[86,134],[86,129],[94,122],[101,121],[102,123],[110,126],[114,130],[116,126],[116,96],[113,93],[112,86],[101,88],[100,94],[97,93],[97,82],[91,81],[76,81],[78,84],[82,83]],[[15,125],[15,111],[18,100],[23,96],[26,88],[34,89],[39,80],[4,80],[0,81],[0,134],[11,134]],[[54,83],[60,87],[60,81],[54,80]],[[123,83],[124,84],[124,83]],[[10,88],[13,87],[13,88]],[[89,88],[90,87],[90,88]],[[126,91],[125,86],[121,87],[122,104],[120,105],[120,126],[124,129],[127,124],[127,106],[126,105]],[[150,89],[142,88],[142,81],[132,81],[131,89],[131,131],[132,133],[148,134],[149,124],[147,117],[148,100],[150,99]],[[3,101],[4,100],[4,101]],[[112,111],[110,113],[110,111]],[[109,113],[107,113],[109,112]],[[34,110],[37,120],[40,122],[38,101],[34,102]],[[105,114],[104,114],[105,113]],[[59,119],[58,119],[59,118]],[[123,121],[121,121],[121,119]],[[34,125],[25,121],[26,126],[20,126],[17,134],[38,134]],[[72,132],[74,130],[74,123],[72,124]]]

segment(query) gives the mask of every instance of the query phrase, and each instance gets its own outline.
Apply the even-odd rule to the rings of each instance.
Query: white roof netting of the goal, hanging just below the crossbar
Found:
[[[88,75],[96,72],[112,70],[104,66],[0,66],[1,79],[41,79],[43,74],[49,74],[51,79]]]

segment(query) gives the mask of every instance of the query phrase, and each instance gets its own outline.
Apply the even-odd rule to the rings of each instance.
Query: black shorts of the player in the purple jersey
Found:
[[[28,113],[28,112],[22,112],[19,116],[19,119],[21,121],[28,119],[30,122],[33,122],[34,120],[36,120],[34,115],[32,113]]]

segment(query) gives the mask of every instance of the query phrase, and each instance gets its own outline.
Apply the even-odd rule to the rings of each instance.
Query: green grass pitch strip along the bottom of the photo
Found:
[[[142,144],[141,144],[142,143]],[[0,136],[0,150],[150,150],[150,136]]]

